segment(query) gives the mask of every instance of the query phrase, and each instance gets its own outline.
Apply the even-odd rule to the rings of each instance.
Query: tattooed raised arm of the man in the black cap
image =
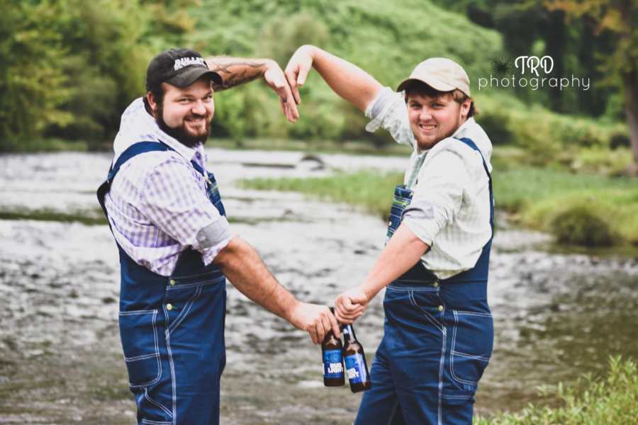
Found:
[[[246,59],[243,57],[211,56],[206,58],[211,71],[222,77],[222,84],[213,84],[214,91],[222,91],[239,86],[257,78],[264,81],[279,96],[281,111],[291,123],[299,118],[297,106],[290,86],[279,64],[272,59]]]

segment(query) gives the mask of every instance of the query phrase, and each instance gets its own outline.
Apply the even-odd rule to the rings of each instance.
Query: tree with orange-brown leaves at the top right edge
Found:
[[[638,5],[634,0],[546,0],[548,10],[561,10],[571,19],[588,18],[596,34],[610,35],[612,50],[598,52],[605,82],[623,95],[629,140],[638,171]]]

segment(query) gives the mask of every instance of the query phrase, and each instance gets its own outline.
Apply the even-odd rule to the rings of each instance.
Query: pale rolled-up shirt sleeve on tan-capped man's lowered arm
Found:
[[[459,154],[443,150],[422,166],[412,202],[403,212],[403,223],[432,246],[439,232],[454,221],[461,208],[469,174]]]

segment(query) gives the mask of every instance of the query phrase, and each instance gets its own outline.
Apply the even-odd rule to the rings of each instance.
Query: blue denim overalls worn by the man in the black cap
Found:
[[[162,143],[139,142],[121,154],[98,189],[105,215],[104,196],[121,165],[135,155],[169,149]],[[225,215],[215,177],[206,177],[208,199]],[[201,254],[190,247],[179,255],[170,277],[153,273],[118,249],[120,336],[138,424],[218,424],[225,276],[212,263],[204,266]]]

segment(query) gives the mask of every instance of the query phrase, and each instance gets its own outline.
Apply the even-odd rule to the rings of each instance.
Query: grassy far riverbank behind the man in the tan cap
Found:
[[[514,222],[552,232],[559,241],[569,244],[588,246],[596,241],[638,244],[638,185],[635,180],[532,166],[498,167],[494,176],[496,206],[509,212]],[[399,173],[362,170],[310,179],[252,179],[240,184],[245,188],[295,191],[332,202],[350,203],[385,220],[393,188],[402,179]],[[564,225],[564,217],[578,225]],[[608,237],[594,238],[592,242],[590,234],[598,228],[591,226],[600,227],[601,223],[606,227],[603,230]],[[574,229],[579,233],[576,234]]]

